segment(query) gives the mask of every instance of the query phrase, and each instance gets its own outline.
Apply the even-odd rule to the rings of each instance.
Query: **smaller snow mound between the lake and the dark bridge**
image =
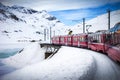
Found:
[[[45,49],[41,49],[38,43],[30,43],[16,55],[3,59],[5,65],[22,68],[24,66],[44,60]]]

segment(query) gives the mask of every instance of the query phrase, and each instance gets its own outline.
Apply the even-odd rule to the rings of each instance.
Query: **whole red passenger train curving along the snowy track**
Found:
[[[97,32],[52,37],[52,44],[89,48],[120,62],[120,33]]]

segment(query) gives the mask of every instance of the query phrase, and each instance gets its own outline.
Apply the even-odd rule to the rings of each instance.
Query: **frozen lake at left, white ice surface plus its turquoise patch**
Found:
[[[28,45],[28,43],[0,43],[0,59],[13,56],[26,45]]]

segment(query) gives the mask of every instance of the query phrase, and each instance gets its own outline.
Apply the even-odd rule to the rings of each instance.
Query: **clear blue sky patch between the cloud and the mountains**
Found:
[[[64,24],[71,26],[82,22],[83,18],[85,18],[86,20],[90,20],[101,14],[107,13],[108,9],[110,9],[111,11],[120,10],[120,2],[110,4],[108,3],[92,8],[51,11],[49,13],[56,16]]]

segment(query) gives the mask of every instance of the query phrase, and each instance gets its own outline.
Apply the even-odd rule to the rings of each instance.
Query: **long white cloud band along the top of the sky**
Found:
[[[20,5],[36,10],[47,11],[96,7],[118,1],[119,0],[0,0],[0,2],[10,6]]]

